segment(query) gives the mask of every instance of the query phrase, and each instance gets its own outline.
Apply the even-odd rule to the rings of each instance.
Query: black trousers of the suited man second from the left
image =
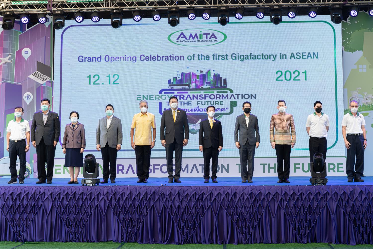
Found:
[[[53,145],[46,145],[44,138],[41,137],[40,143],[36,146],[36,155],[38,157],[38,178],[39,181],[51,181],[53,177],[54,168],[54,154],[56,147]],[[47,174],[46,174],[47,164]]]

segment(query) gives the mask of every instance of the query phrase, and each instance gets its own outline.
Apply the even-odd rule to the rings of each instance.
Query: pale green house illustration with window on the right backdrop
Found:
[[[351,69],[343,88],[347,99],[357,100],[359,105],[372,105],[373,109],[373,32],[364,32],[363,55]],[[348,106],[348,104],[347,104]],[[347,108],[345,106],[345,108]]]

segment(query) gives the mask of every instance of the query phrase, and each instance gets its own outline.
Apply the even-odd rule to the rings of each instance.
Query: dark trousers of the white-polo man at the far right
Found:
[[[351,144],[347,150],[346,173],[348,179],[361,178],[364,173],[364,137],[346,136],[347,141]],[[355,162],[356,157],[356,162]],[[355,170],[354,170],[355,166]]]

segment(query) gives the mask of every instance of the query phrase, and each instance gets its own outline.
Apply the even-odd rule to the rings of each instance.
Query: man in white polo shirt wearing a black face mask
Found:
[[[323,103],[316,101],[313,104],[315,110],[312,114],[308,115],[307,122],[305,124],[308,136],[310,140],[308,145],[310,146],[310,160],[313,161],[313,155],[315,153],[322,153],[324,161],[326,160],[327,150],[327,132],[329,131],[329,116],[322,112]]]

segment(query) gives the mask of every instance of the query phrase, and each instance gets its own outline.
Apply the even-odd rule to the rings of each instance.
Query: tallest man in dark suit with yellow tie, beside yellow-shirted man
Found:
[[[189,140],[188,117],[183,109],[178,109],[178,103],[178,98],[175,96],[170,97],[171,108],[162,113],[161,120],[161,141],[162,146],[166,147],[169,183],[173,182],[173,178],[175,178],[175,183],[181,183],[180,171],[183,146],[186,146]],[[164,128],[166,128],[166,136],[164,133]],[[175,151],[175,175],[173,175],[172,165],[173,151]]]

